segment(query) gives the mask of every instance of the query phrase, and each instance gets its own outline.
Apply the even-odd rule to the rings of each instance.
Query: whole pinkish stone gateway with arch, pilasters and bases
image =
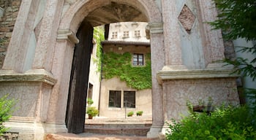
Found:
[[[187,99],[197,104],[211,96],[214,104],[238,104],[232,67],[217,63],[225,58],[221,31],[207,24],[216,15],[212,0],[21,1],[0,70],[1,95],[19,100],[7,127],[19,132],[19,139],[67,133],[72,59],[85,19],[91,26],[148,23],[153,119],[148,137],[165,133],[165,121],[185,112]]]

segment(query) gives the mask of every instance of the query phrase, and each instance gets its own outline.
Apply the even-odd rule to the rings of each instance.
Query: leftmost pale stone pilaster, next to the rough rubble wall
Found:
[[[29,67],[26,66],[31,61],[31,58],[28,58],[31,56],[29,49],[30,47],[35,47],[35,45],[30,45],[29,43],[31,33],[34,30],[38,7],[39,0],[24,0],[21,2],[2,69],[13,69],[20,73],[29,70]]]

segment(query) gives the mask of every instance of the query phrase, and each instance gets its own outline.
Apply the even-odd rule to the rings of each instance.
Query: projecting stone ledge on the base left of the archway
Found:
[[[0,70],[0,82],[43,82],[55,85],[57,80],[45,69],[31,69],[24,74],[12,70]]]

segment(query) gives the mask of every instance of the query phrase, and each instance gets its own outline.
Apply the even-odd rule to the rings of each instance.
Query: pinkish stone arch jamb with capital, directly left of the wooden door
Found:
[[[72,69],[72,58],[78,39],[70,30],[60,29],[53,55],[53,75],[57,82],[50,98],[47,123],[65,125],[69,78]]]

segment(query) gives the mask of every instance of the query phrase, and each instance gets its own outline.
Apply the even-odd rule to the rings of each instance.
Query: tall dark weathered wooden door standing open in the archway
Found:
[[[94,28],[85,21],[78,29],[69,82],[66,125],[69,133],[83,133]]]

